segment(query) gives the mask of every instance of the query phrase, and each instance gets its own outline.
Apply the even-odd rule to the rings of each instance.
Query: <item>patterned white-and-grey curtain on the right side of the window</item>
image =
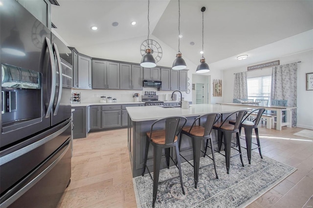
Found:
[[[271,100],[287,100],[287,106],[297,106],[297,62],[273,66]],[[291,125],[297,125],[297,111],[292,110]]]

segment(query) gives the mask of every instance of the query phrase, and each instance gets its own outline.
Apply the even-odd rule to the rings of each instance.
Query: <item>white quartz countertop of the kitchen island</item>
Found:
[[[200,116],[206,113],[231,113],[237,110],[251,109],[220,104],[192,104],[188,109],[180,107],[162,108],[159,106],[126,107],[127,112],[134,122],[157,120],[170,116]]]

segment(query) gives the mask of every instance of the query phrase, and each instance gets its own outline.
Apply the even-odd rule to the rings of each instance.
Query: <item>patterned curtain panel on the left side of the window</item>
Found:
[[[234,99],[247,99],[248,88],[246,82],[246,72],[236,73],[234,82]]]

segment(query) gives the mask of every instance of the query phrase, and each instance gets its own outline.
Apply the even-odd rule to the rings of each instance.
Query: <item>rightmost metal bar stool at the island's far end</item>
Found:
[[[265,108],[258,108],[258,109],[255,109],[253,111],[251,111],[247,116],[246,118],[243,120],[243,122],[241,123],[240,127],[239,127],[239,134],[241,133],[241,128],[244,127],[245,129],[245,134],[246,134],[246,152],[247,152],[247,155],[248,155],[248,161],[249,161],[249,164],[251,164],[251,151],[253,149],[256,149],[256,148],[253,148],[252,149],[252,144],[254,145],[257,145],[258,149],[259,149],[259,153],[260,153],[260,156],[261,158],[263,159],[262,157],[262,153],[261,153],[261,146],[260,146],[260,138],[259,138],[259,131],[258,131],[258,124],[260,122],[260,119],[261,119],[261,116],[262,114],[264,113],[265,111]],[[246,119],[250,117],[250,114],[253,113],[258,113],[256,118],[251,122],[251,121],[247,121]],[[234,125],[235,124],[235,120],[231,120],[229,121],[229,124],[232,124]],[[257,144],[255,143],[252,143],[252,129],[254,128],[254,131],[255,131],[255,137],[256,137],[256,142]]]

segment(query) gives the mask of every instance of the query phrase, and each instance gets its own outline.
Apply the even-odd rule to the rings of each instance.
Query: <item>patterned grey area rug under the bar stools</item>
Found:
[[[232,152],[236,152],[232,150]],[[201,168],[198,188],[194,187],[193,167],[182,163],[183,195],[179,177],[158,185],[156,208],[236,208],[246,207],[270,188],[276,186],[296,168],[282,164],[268,157],[260,158],[252,151],[251,165],[248,164],[246,151],[243,150],[245,167],[240,157],[230,159],[229,174],[226,173],[225,157],[215,153],[217,173],[214,166]],[[183,160],[183,159],[182,159]],[[192,162],[191,162],[192,163]],[[201,158],[201,166],[212,164],[208,157]],[[151,170],[152,171],[152,170]],[[159,181],[178,176],[178,168],[171,166],[160,171]],[[149,174],[133,179],[138,208],[152,207],[153,182]]]

